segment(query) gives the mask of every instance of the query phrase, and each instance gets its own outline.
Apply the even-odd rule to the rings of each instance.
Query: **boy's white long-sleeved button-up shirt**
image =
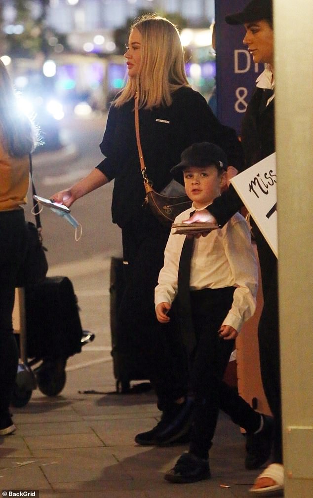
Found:
[[[175,223],[189,218],[194,207],[176,217]],[[164,251],[164,265],[155,289],[155,304],[171,304],[177,294],[177,275],[185,235],[171,230]],[[194,239],[190,268],[190,289],[237,287],[232,307],[221,325],[230,325],[237,332],[256,308],[258,267],[246,220],[236,213],[221,229],[207,237]]]

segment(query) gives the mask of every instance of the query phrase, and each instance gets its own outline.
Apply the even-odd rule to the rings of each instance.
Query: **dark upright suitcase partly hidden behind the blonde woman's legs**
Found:
[[[123,270],[123,259],[119,257],[111,258],[110,269],[110,324],[111,324],[111,344],[113,358],[113,373],[116,379],[116,391],[121,393],[133,392],[131,389],[131,380],[145,380],[148,378],[147,373],[143,372],[141,367],[142,361],[140,354],[135,347],[129,345],[127,357],[118,349],[119,332],[118,332],[118,312],[124,292],[125,280]],[[138,390],[146,390],[151,387],[150,383],[143,383]]]

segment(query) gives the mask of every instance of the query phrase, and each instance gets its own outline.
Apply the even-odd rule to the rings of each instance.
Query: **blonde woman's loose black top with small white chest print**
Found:
[[[229,164],[241,170],[243,154],[232,128],[223,126],[205,99],[188,87],[172,94],[169,107],[139,111],[140,139],[147,176],[159,192],[171,180],[170,168],[194,142],[212,141],[224,148]],[[97,166],[115,179],[112,218],[120,227],[139,216],[145,199],[135,134],[134,100],[111,107],[100,149],[105,159]]]

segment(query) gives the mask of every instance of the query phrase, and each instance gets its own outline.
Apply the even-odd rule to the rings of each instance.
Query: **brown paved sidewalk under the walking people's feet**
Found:
[[[17,430],[0,438],[0,490],[39,490],[40,498],[249,496],[258,473],[244,470],[244,438],[228,419],[219,420],[210,455],[212,479],[170,484],[163,473],[187,447],[134,443],[137,432],[157,421],[153,391],[108,394],[115,388],[109,356],[89,367],[69,368],[59,396],[35,390],[26,406],[13,409]]]

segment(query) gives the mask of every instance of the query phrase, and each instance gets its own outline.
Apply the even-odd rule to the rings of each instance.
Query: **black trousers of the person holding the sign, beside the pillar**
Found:
[[[258,248],[264,300],[258,326],[261,377],[264,392],[274,416],[273,461],[275,463],[282,463],[277,258],[254,223],[252,229]]]

